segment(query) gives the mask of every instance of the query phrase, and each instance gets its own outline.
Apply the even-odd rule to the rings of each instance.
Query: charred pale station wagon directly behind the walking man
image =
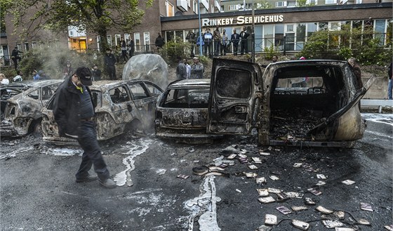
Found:
[[[107,140],[126,131],[145,133],[149,126],[153,126],[156,100],[163,92],[156,84],[146,80],[93,81],[90,89],[98,140]],[[53,95],[42,110],[44,140],[74,142],[58,136],[58,124],[53,116],[54,98]]]

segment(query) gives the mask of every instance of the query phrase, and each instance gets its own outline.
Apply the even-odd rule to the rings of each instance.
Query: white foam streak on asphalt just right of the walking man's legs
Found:
[[[133,140],[128,141],[127,145],[123,146],[123,149],[128,150],[127,152],[122,153],[128,155],[128,157],[123,159],[123,164],[126,166],[126,170],[116,174],[114,177],[116,185],[123,186],[127,181],[129,183],[132,182],[130,172],[135,169],[134,158],[146,152],[151,143],[152,140]]]

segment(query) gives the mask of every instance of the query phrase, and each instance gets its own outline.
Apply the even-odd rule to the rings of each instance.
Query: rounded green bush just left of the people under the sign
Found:
[[[189,51],[189,48],[191,46],[188,42],[183,42],[182,39],[176,38],[168,41],[159,53],[167,63],[175,64],[178,57],[185,58],[185,51]]]

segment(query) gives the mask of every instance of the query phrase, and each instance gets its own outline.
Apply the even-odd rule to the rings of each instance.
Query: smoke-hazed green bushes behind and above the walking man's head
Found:
[[[23,79],[32,79],[32,71],[43,70],[51,79],[62,79],[63,69],[69,60],[74,70],[77,67],[92,67],[94,63],[103,70],[102,57],[95,53],[79,53],[69,48],[43,48],[27,51],[20,62]]]

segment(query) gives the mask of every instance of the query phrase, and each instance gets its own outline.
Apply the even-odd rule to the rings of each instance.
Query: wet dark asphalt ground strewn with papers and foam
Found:
[[[1,230],[387,230],[393,115],[362,116],[364,138],[347,150],[114,138],[101,143],[110,190],[75,183],[77,146],[2,139]]]

